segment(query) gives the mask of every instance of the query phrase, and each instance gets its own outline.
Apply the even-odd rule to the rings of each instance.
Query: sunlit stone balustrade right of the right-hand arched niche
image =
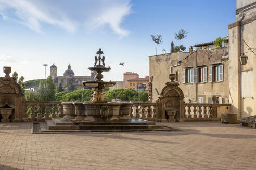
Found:
[[[183,121],[220,120],[223,112],[230,111],[231,104],[184,103]]]

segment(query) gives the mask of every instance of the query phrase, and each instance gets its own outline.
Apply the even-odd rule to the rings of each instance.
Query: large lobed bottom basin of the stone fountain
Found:
[[[76,121],[130,121],[133,103],[62,102],[63,119]]]

